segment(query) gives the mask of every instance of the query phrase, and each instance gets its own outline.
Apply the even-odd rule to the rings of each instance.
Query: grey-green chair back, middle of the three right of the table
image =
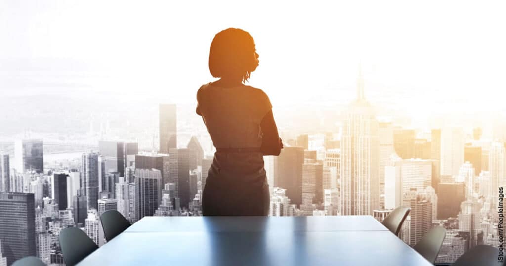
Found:
[[[446,237],[446,229],[441,226],[434,227],[425,234],[420,241],[413,247],[416,252],[424,256],[429,262],[434,264],[438,257],[439,250],[443,246]]]

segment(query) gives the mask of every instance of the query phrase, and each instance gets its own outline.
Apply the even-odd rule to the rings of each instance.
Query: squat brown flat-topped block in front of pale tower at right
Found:
[[[466,200],[464,183],[440,183],[438,188],[438,219],[457,217],[460,203]]]

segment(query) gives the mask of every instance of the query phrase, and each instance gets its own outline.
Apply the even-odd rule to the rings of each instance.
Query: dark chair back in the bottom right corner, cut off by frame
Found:
[[[488,245],[478,245],[462,254],[451,266],[499,266],[502,261],[497,261],[499,249]]]

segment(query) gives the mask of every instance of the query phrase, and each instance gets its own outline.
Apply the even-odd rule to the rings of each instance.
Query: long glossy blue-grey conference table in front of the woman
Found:
[[[432,265],[372,216],[146,216],[84,265]]]

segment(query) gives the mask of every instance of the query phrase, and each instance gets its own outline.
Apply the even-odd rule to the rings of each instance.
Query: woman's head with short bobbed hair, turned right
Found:
[[[209,48],[209,72],[215,78],[242,76],[242,81],[246,81],[256,67],[254,53],[255,41],[247,31],[222,30],[215,35]]]

